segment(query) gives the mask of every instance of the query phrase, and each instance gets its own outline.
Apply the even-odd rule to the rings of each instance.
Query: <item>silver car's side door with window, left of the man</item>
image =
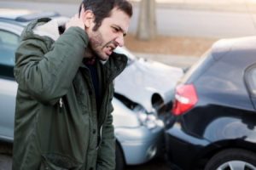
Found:
[[[19,38],[0,26],[0,139],[5,141],[12,141],[14,137],[17,83],[13,67]]]

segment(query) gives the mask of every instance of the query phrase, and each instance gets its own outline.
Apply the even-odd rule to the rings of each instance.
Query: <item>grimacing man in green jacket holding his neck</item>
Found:
[[[113,49],[131,15],[126,0],[84,0],[61,36],[54,20],[26,26],[15,61],[14,170],[114,169],[113,79],[127,59]]]

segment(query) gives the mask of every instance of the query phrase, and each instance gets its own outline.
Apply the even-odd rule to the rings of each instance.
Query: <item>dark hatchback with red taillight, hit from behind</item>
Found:
[[[256,37],[214,43],[177,84],[168,160],[189,170],[256,169],[255,109]]]

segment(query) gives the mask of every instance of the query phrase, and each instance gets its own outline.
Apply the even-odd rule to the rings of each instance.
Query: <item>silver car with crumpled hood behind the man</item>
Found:
[[[3,12],[3,9],[0,9],[3,12],[3,14],[0,12],[0,140],[12,142],[15,96],[18,87],[13,75],[13,67],[15,49],[19,44],[21,31],[29,21],[37,17],[47,15],[59,22],[68,19],[55,13],[34,14],[28,10],[4,10],[7,11]],[[113,98],[113,126],[117,139],[116,169],[121,170],[125,165],[142,164],[154,156],[163,154],[163,122],[158,117],[159,109],[155,108],[160,108],[169,102],[168,95],[172,94],[174,83],[183,73],[181,69],[137,59],[125,48],[119,48],[117,52],[126,54],[129,58],[125,72],[115,81],[116,93]],[[154,77],[150,71],[154,71],[158,77]],[[172,74],[174,74],[173,78]],[[155,84],[154,81],[149,81],[150,77],[154,81],[157,78],[155,82],[164,81],[166,78],[163,77],[168,77],[172,81]],[[125,83],[125,86],[122,86],[122,83]],[[137,94],[129,94],[135,91],[133,83],[136,83],[137,88],[134,89],[138,89]]]

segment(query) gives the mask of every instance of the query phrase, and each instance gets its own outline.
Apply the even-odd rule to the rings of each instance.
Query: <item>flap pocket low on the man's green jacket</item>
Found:
[[[81,166],[81,163],[69,156],[45,154],[42,156],[40,170],[78,170]]]

